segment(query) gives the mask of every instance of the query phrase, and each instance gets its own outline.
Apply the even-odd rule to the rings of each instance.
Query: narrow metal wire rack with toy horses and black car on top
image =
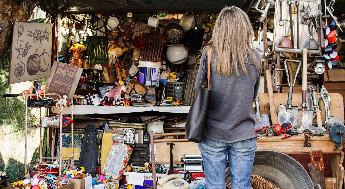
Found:
[[[22,96],[19,95],[19,96]],[[36,96],[36,94],[32,94],[31,96]],[[46,113],[42,114],[42,108],[52,108],[52,107],[28,107],[28,100],[25,99],[25,151],[24,151],[24,169],[25,172],[31,172],[31,171],[43,171],[48,172],[50,174],[56,174],[61,175],[63,170],[66,167],[72,167],[74,165],[74,124],[71,124],[71,148],[72,148],[72,156],[71,157],[62,157],[62,128],[66,127],[63,126],[63,117],[62,117],[62,98],[59,94],[56,93],[47,93],[46,96],[50,97],[58,97],[60,99],[60,112],[59,112],[59,118],[60,118],[60,125],[58,127],[42,127],[42,118],[43,117],[49,117],[49,116],[56,116],[56,115],[49,115]],[[71,118],[74,120],[73,116],[73,100],[71,101]],[[32,118],[29,118],[29,112],[32,115]],[[39,112],[39,115],[37,116],[37,113]],[[38,123],[37,123],[38,122]],[[33,125],[34,124],[34,125]],[[27,162],[27,143],[28,143],[28,129],[40,129],[40,158],[37,160],[34,160],[30,163]],[[59,135],[59,153],[57,157],[42,157],[42,131],[43,129],[59,129],[60,135]],[[68,158],[68,159],[66,159]],[[64,159],[64,160],[62,160]]]

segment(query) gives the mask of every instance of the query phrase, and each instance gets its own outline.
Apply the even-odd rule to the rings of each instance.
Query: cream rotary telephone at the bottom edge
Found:
[[[157,183],[157,189],[189,189],[189,187],[189,183],[180,175],[167,175]]]

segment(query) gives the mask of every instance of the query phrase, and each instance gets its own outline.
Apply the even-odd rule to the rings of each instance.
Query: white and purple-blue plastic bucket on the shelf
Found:
[[[139,82],[146,86],[158,87],[161,62],[139,61]]]

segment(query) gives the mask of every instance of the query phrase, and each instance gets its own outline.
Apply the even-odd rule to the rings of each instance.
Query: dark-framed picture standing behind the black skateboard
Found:
[[[57,132],[57,138],[59,137],[59,132]],[[62,158],[64,157],[71,157],[72,149],[71,149],[71,129],[62,129]],[[85,129],[77,129],[74,130],[73,136],[73,143],[74,146],[74,165],[79,165],[79,156],[82,146],[82,139],[85,133]],[[97,133],[97,166],[101,166],[101,151],[102,151],[102,136],[103,130],[96,130]],[[57,142],[57,156],[59,156],[59,148],[60,144]]]

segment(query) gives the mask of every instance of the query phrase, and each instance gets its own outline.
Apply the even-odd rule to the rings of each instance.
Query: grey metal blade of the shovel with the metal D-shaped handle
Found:
[[[297,126],[298,107],[292,106],[290,109],[286,105],[279,106],[278,121],[279,125],[291,123],[292,127]]]

